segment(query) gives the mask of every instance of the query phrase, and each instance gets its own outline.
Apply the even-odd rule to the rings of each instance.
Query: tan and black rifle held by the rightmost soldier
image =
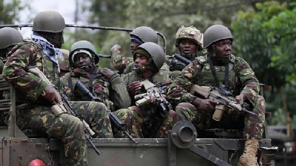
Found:
[[[206,87],[206,86],[198,86],[198,85],[191,85],[190,94],[198,94],[199,96],[217,101],[217,105],[215,107],[215,112],[213,114],[213,119],[216,121],[220,121],[222,118],[223,111],[226,108],[235,109],[237,111],[243,111],[249,113],[255,117],[258,115],[252,112],[250,104],[246,102],[239,101],[236,103],[235,98],[231,97],[231,93],[227,90],[217,87]]]

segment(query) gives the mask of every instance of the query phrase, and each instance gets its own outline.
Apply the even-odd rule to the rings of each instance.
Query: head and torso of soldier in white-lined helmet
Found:
[[[130,105],[129,94],[119,74],[98,65],[99,55],[91,42],[75,42],[70,48],[69,61],[71,72],[62,77],[62,82],[64,92],[71,100],[92,100],[75,87],[79,80],[95,97],[104,100],[112,111]]]

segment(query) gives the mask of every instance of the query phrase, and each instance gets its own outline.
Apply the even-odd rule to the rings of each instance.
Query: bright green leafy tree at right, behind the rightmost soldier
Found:
[[[296,47],[296,36],[292,34],[296,30],[295,11],[288,9],[287,3],[280,4],[278,1],[256,3],[255,6],[255,10],[239,12],[237,19],[231,23],[234,49],[236,55],[250,62],[260,82],[273,86],[273,93],[265,98],[271,101],[266,104],[267,107],[269,105],[269,108],[274,108],[273,112],[284,109],[289,121],[288,109],[291,108],[295,95],[289,96],[287,100],[285,96],[287,91],[295,92],[295,87],[292,84],[288,86],[286,79],[295,72],[293,50]],[[282,102],[278,102],[278,98]]]

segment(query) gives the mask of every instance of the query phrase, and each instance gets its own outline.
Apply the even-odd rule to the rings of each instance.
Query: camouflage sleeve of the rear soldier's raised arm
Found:
[[[120,50],[116,50],[111,53],[111,62],[112,65],[122,73],[126,66],[134,61],[133,58],[123,57]]]

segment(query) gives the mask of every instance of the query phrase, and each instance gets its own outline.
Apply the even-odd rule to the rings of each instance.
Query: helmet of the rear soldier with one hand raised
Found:
[[[139,37],[144,43],[145,42],[153,42],[153,43],[158,43],[158,37],[157,33],[150,27],[138,27],[134,29],[131,33],[130,36],[136,36]]]

